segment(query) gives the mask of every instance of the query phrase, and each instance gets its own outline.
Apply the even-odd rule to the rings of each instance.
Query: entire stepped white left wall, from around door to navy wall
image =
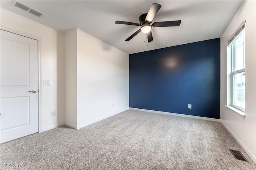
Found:
[[[50,80],[41,86],[43,131],[65,122],[80,128],[128,109],[128,54],[79,29],[64,35],[2,8],[0,24],[40,39],[41,78]]]

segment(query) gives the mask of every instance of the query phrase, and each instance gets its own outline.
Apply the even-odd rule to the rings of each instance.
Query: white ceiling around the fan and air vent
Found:
[[[12,6],[12,2],[1,0],[1,8],[62,32],[79,28],[128,54],[218,38],[242,4],[240,0],[20,1],[45,14],[38,18]],[[124,41],[140,26],[114,22],[139,23],[139,16],[147,13],[153,2],[162,5],[162,8],[152,23],[181,20],[180,26],[153,27],[154,41],[148,47],[144,43],[144,33]]]

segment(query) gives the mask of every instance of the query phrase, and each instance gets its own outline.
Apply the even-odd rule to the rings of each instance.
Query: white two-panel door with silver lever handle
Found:
[[[1,30],[0,47],[0,142],[4,143],[38,132],[38,41]]]

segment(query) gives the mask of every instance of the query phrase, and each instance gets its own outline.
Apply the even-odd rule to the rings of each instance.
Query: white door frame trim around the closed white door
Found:
[[[37,52],[37,56],[38,56],[38,133],[42,132],[42,77],[41,77],[41,38],[33,36],[33,35],[29,35],[20,31],[16,31],[14,29],[10,29],[8,27],[4,27],[4,26],[0,26],[0,29],[4,30],[4,31],[8,31],[10,33],[14,33],[17,35],[21,35],[23,37],[28,37],[34,40],[38,41],[38,52]]]

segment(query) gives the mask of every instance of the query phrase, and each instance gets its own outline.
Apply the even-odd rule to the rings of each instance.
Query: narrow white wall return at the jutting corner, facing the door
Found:
[[[65,124],[77,126],[77,38],[76,29],[65,34]]]

